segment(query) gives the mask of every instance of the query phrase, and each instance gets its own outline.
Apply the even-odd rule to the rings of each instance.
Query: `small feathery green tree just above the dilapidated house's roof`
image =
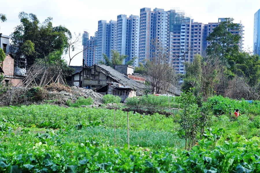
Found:
[[[102,54],[103,58],[105,59],[105,62],[100,61],[100,64],[105,64],[107,66],[110,66],[113,68],[113,65],[122,65],[123,60],[127,58],[127,55],[120,55],[118,51],[111,50],[111,60],[109,60],[108,56],[106,54]]]

